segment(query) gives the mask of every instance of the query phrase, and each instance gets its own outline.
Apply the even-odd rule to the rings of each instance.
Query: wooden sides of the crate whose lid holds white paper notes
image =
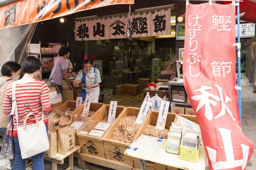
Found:
[[[109,107],[110,105],[104,105],[104,109],[100,110],[99,113],[92,116],[91,120],[102,121],[105,116],[108,116]],[[116,119],[124,111],[125,111],[125,107],[117,106]],[[82,131],[85,126],[86,124],[84,124],[83,127],[80,128],[79,132]],[[79,145],[81,146],[81,153],[86,153],[89,155],[106,158],[105,150],[102,142],[102,138],[104,136],[100,139],[94,136],[84,135],[79,132],[77,133],[77,137],[78,137]]]

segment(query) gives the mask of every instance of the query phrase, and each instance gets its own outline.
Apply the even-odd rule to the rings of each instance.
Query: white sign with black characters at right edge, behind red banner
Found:
[[[236,37],[237,37],[237,24],[236,24]],[[240,24],[240,37],[254,37],[255,24]]]

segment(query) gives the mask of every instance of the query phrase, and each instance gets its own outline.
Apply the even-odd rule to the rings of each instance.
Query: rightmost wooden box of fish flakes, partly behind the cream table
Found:
[[[151,111],[149,113],[142,127],[140,128],[139,132],[135,136],[134,141],[136,141],[143,134],[147,136],[154,136],[158,138],[167,139],[170,126],[172,126],[172,122],[175,121],[176,114],[175,113],[167,114],[166,125],[164,130],[159,130],[156,128],[158,114],[159,112],[157,111]],[[133,159],[134,159],[134,167],[141,169],[140,159],[137,159],[137,158],[133,158]],[[145,165],[146,165],[146,168],[144,168],[145,170],[166,170],[166,165],[157,164],[151,161],[145,161]]]

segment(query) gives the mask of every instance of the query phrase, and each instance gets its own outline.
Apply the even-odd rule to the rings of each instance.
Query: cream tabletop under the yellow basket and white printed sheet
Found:
[[[206,153],[204,150],[204,146],[200,147],[200,153],[198,162],[190,162],[180,159],[180,155],[172,154],[166,152],[167,148],[167,140],[163,143],[163,145],[160,147],[158,152],[155,156],[148,155],[145,153],[139,153],[134,150],[126,150],[125,155],[131,156],[133,158],[141,159],[144,161],[151,161],[158,164],[163,164],[167,166],[167,169],[169,170],[206,170]],[[144,170],[144,168],[142,168]]]

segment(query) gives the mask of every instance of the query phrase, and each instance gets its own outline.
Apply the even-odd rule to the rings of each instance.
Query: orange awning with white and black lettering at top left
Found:
[[[5,3],[6,0],[2,4]],[[0,6],[0,29],[121,4],[134,4],[134,0],[11,0]]]

